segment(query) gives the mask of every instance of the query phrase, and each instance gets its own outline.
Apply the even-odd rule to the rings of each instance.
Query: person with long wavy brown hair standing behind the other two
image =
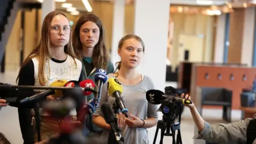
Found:
[[[78,19],[73,31],[73,47],[76,57],[83,61],[83,79],[94,82],[95,70],[99,68],[105,69],[108,74],[114,72],[105,43],[105,30],[96,15],[86,13]],[[85,102],[93,97],[93,94],[88,95]],[[101,133],[101,129],[93,125],[91,116],[86,118],[86,127],[90,132]]]

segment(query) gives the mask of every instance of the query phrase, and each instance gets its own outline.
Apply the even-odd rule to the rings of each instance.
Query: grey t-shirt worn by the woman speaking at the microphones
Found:
[[[108,77],[115,77],[113,74],[108,74]],[[123,83],[123,101],[128,109],[128,113],[134,116],[137,116],[140,119],[146,119],[148,117],[158,117],[156,110],[157,105],[152,105],[146,99],[146,92],[148,90],[154,89],[154,84],[152,80],[145,76],[143,81],[141,81],[137,85],[125,85]],[[110,106],[113,106],[115,103],[115,98],[111,98],[108,94],[107,90],[107,83],[105,83],[102,87],[101,91],[101,99],[100,99],[100,106],[103,102],[108,102]],[[99,107],[94,115],[102,116],[101,108]],[[108,141],[109,130],[103,130],[101,134],[101,139],[103,141]],[[122,136],[124,138],[123,143],[127,144],[148,144],[148,131],[145,128],[140,127],[128,127],[124,125],[122,127]]]

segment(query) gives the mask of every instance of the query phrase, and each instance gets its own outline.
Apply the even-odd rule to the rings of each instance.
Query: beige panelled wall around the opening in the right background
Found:
[[[171,18],[174,23],[173,28],[173,50],[171,63],[173,68],[179,65],[178,61],[178,47],[179,47],[179,36],[182,35],[193,35],[203,36],[203,61],[212,61],[213,41],[214,41],[214,19],[213,16],[207,15],[191,15],[184,13],[171,13]],[[199,53],[198,53],[199,54]],[[189,57],[196,57],[196,55],[189,55]]]

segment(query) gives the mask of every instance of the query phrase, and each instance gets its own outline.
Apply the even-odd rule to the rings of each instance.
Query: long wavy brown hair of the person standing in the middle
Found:
[[[83,14],[76,22],[76,26],[73,31],[73,47],[75,50],[75,54],[79,60],[83,59],[83,47],[80,41],[79,34],[81,26],[87,21],[94,22],[100,29],[99,42],[94,46],[92,53],[92,63],[95,66],[95,68],[103,68],[107,70],[109,52],[107,50],[105,43],[105,30],[100,19],[92,13]]]

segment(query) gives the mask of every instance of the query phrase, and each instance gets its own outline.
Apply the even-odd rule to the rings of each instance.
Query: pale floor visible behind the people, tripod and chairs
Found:
[[[15,78],[17,77],[18,71],[7,71],[5,74],[0,74],[0,82],[15,84]],[[177,87],[177,83],[166,83],[166,86]],[[222,110],[204,109],[203,117],[210,124],[224,123],[221,121]],[[190,111],[186,108],[181,116],[181,137],[182,143],[192,144],[195,124],[190,115]],[[241,118],[241,111],[232,111],[232,121],[237,122]],[[159,119],[162,119],[162,113],[159,113]],[[17,108],[4,107],[0,111],[0,131],[4,133],[11,141],[12,144],[21,144],[22,137],[19,128]],[[148,129],[148,135],[150,143],[153,143],[155,136],[156,127]],[[157,142],[160,140],[160,131],[158,132]],[[171,137],[164,137],[164,143],[172,143]]]

